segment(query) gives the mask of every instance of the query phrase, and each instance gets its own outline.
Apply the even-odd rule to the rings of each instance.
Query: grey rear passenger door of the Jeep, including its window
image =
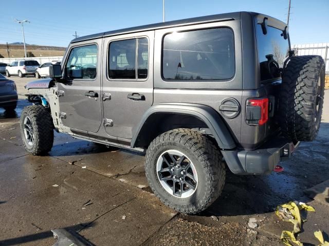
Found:
[[[154,31],[104,38],[104,127],[123,144],[153,104],[153,48]]]

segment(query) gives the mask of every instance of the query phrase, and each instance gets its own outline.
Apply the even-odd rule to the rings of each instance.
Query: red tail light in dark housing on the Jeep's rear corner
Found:
[[[251,126],[264,125],[268,120],[268,98],[248,99],[246,121]]]

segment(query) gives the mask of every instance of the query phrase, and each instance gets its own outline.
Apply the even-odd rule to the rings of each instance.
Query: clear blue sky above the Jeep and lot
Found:
[[[5,8],[4,7],[5,3]],[[162,0],[20,1],[2,3],[0,44],[22,42],[21,26],[28,19],[27,44],[66,47],[80,36],[162,21]],[[291,0],[291,44],[329,43],[328,0]],[[288,0],[166,0],[166,20],[216,13],[254,11],[286,21]]]

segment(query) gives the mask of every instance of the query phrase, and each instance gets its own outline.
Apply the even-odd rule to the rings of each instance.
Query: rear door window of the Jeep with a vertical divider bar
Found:
[[[111,42],[108,57],[109,78],[144,79],[148,77],[149,41],[147,38]]]

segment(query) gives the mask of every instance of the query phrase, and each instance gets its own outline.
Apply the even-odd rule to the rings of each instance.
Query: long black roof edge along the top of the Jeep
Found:
[[[100,32],[92,35],[77,37],[71,41],[71,43],[77,43],[81,41],[86,41],[95,38],[101,38],[106,36],[114,36],[119,34],[126,34],[126,33],[133,33],[133,32],[140,32],[140,31],[150,31],[155,29],[161,28],[170,28],[175,26],[184,26],[190,24],[201,24],[201,23],[211,23],[223,20],[230,20],[230,19],[240,19],[242,12],[232,12],[232,13],[225,13],[225,14],[214,14],[214,15],[207,15],[201,17],[194,17],[194,18],[187,18],[187,19],[178,19],[172,20],[171,22],[161,22],[156,24],[150,24],[145,26],[139,27],[131,27],[131,28],[124,28],[115,31],[108,31],[108,32]],[[256,15],[257,13],[248,12],[251,15]]]

